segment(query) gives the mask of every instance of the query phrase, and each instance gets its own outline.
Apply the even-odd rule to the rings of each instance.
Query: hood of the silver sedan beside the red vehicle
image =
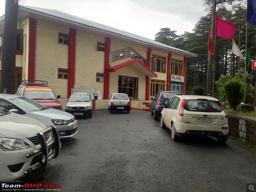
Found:
[[[31,113],[37,115],[44,115],[49,117],[50,119],[70,120],[74,118],[74,116],[70,113],[53,108],[48,108],[42,111],[33,111]]]

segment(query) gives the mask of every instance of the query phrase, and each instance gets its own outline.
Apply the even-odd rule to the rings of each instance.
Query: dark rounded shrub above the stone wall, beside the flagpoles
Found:
[[[236,106],[239,105],[240,101],[243,99],[240,82],[231,80],[224,85],[224,90],[230,107],[236,110]]]

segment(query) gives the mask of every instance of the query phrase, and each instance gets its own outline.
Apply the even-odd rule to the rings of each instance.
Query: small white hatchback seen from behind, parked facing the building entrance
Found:
[[[113,111],[126,111],[130,112],[130,100],[125,93],[112,93],[108,100],[108,110],[110,113]]]

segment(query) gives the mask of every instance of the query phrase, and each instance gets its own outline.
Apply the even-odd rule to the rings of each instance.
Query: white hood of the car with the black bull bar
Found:
[[[6,138],[26,139],[27,136],[46,128],[45,124],[36,119],[19,114],[0,116],[0,134]]]

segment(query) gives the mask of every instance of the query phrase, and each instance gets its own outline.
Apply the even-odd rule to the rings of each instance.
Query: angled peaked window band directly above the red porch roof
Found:
[[[144,65],[146,65],[147,63],[145,58],[143,58],[141,55],[133,51],[131,48],[125,48],[125,49],[116,50],[114,52],[110,52],[109,63],[118,61],[121,59],[125,59],[127,57],[130,57],[133,60],[139,60]]]

